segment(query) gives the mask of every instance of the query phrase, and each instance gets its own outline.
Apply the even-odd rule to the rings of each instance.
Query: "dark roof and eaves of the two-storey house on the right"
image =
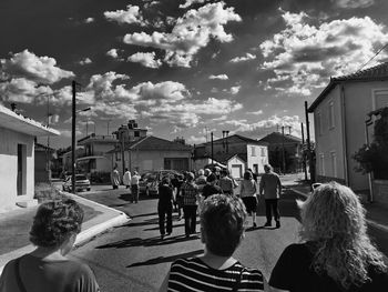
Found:
[[[318,104],[326,98],[326,95],[337,85],[344,82],[366,82],[366,81],[385,81],[388,80],[388,62],[370,67],[365,70],[357,71],[351,74],[330,78],[330,82],[320,92],[318,98],[308,108],[308,112],[314,112]]]

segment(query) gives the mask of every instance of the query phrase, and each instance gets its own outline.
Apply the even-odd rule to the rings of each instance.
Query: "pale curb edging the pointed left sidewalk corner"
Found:
[[[120,212],[115,209],[105,207],[103,204],[86,200],[84,198],[81,198],[71,193],[67,193],[67,195],[71,197],[72,199],[74,199],[81,204],[93,208],[99,213],[96,217],[92,218],[91,220],[82,224],[82,231],[76,236],[76,241],[74,244],[75,248],[111,228],[122,225],[131,220],[125,213]],[[18,210],[18,212],[22,212],[22,211],[23,210]],[[25,211],[29,211],[29,210],[25,210]],[[29,253],[34,249],[35,246],[33,246],[32,244],[28,244],[12,252],[1,254],[0,255],[0,274],[7,262],[18,256],[21,256],[24,253]]]

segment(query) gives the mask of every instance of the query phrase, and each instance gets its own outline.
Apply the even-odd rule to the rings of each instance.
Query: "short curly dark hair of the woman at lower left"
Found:
[[[60,246],[81,231],[83,210],[72,199],[42,203],[33,218],[30,241],[37,246]]]

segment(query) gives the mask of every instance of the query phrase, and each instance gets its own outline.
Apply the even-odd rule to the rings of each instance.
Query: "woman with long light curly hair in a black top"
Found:
[[[321,184],[299,205],[306,242],[285,249],[270,275],[273,291],[387,291],[384,255],[370,242],[365,209],[349,188]]]

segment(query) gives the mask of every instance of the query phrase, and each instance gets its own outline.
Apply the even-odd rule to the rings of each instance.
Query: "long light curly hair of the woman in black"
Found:
[[[368,269],[386,271],[384,255],[367,235],[365,209],[357,195],[337,182],[321,184],[304,203],[302,240],[313,241],[312,268],[346,290],[367,281]]]

